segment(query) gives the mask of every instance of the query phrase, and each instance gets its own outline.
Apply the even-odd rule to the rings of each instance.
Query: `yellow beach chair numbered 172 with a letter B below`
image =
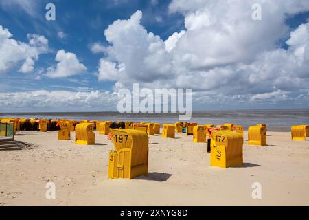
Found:
[[[242,165],[243,142],[240,133],[229,130],[211,131],[210,166],[227,168]]]

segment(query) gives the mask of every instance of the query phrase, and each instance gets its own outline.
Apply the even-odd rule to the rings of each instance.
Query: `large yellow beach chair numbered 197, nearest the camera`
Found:
[[[108,178],[148,175],[148,135],[133,129],[111,129],[115,151],[109,153]]]

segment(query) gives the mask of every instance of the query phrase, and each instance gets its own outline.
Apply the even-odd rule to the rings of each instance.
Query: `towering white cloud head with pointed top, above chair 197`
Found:
[[[108,59],[115,61],[115,66],[124,64],[126,74],[122,80],[127,84],[172,77],[172,61],[164,42],[141,26],[141,17],[141,11],[137,11],[128,20],[115,21],[104,32],[106,40],[113,45],[108,47]],[[106,80],[115,80],[115,77]]]

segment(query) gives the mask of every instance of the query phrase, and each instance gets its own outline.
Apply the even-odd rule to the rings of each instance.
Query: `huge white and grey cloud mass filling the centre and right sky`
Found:
[[[262,5],[261,21],[251,17],[253,3]],[[276,102],[308,93],[308,23],[292,31],[285,23],[309,11],[308,1],[174,0],[169,10],[183,14],[185,30],[165,41],[141,25],[140,11],[108,26],[110,46],[100,60],[99,80],[117,87],[139,82],[192,88],[205,104],[219,96],[226,102]],[[283,39],[288,50],[278,46]],[[119,65],[125,67],[121,74]]]

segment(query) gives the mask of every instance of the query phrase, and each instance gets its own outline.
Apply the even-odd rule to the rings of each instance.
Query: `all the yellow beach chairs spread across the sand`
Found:
[[[16,124],[16,131],[25,126],[27,119],[0,119],[1,122]],[[115,151],[108,157],[108,177],[111,179],[132,179],[148,173],[148,135],[160,133],[161,124],[149,122],[112,122],[81,120],[30,119],[30,124],[38,123],[38,130],[58,130],[58,140],[70,140],[75,131],[76,144],[95,144],[95,129],[100,135],[107,135],[113,141]],[[55,124],[56,123],[56,124]],[[53,124],[53,125],[52,125]],[[19,127],[19,129],[17,129]],[[32,128],[32,127],[31,127]],[[30,128],[30,129],[31,129]],[[248,144],[266,146],[266,124],[249,126]],[[176,122],[163,124],[162,137],[174,138],[175,133],[192,135],[193,142],[207,143],[210,153],[210,165],[227,168],[243,164],[244,128],[241,125],[197,124]],[[306,140],[309,137],[309,125],[291,127],[292,140]]]

